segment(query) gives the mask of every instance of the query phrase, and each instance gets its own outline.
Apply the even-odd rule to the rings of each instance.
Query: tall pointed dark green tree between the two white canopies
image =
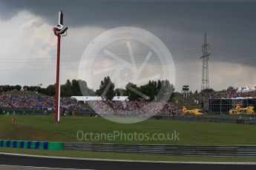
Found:
[[[114,98],[114,88],[115,85],[111,81],[111,78],[105,77],[103,81],[100,82],[99,89],[96,90],[96,94],[102,96],[102,98],[108,98],[111,100]]]

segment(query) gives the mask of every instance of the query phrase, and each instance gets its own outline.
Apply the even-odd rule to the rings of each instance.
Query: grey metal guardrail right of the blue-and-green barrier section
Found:
[[[63,143],[63,149],[177,156],[256,157],[256,145],[125,145],[109,143]]]

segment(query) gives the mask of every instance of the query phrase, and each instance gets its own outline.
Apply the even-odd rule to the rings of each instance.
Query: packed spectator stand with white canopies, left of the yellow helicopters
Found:
[[[73,96],[61,98],[61,108],[69,110],[69,112],[79,111],[92,113],[96,111],[111,113],[115,112],[122,115],[134,114],[164,114],[171,113],[179,114],[180,109],[173,102],[153,102],[145,101],[138,98],[137,101],[128,101],[127,96],[116,96],[114,100],[102,100],[99,96]],[[55,106],[54,98],[52,96],[39,95],[0,95],[0,108],[3,112],[51,112]],[[91,108],[93,106],[93,109]],[[150,109],[145,110],[145,106],[151,106]],[[22,110],[22,111],[21,111]],[[157,110],[157,111],[156,111]],[[161,110],[159,112],[159,110]]]

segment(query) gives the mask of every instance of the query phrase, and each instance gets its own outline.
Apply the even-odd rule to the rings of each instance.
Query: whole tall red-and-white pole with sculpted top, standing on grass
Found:
[[[53,28],[54,34],[58,38],[57,43],[57,61],[56,61],[56,93],[55,93],[55,110],[54,110],[54,121],[59,122],[59,112],[60,112],[60,72],[59,72],[59,64],[60,64],[60,40],[62,36],[67,35],[68,27],[63,27],[63,13],[59,11],[59,23],[56,27]]]

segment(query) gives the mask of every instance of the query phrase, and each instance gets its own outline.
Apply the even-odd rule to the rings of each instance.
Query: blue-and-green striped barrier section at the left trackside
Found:
[[[62,142],[42,142],[27,140],[0,140],[0,147],[21,149],[62,150]]]

